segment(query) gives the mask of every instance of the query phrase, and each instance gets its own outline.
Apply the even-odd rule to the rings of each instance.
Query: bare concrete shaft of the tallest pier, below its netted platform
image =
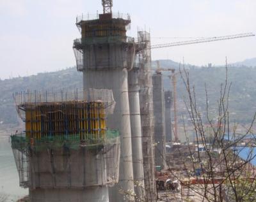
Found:
[[[113,114],[108,116],[107,126],[120,129],[120,175],[119,183],[109,192],[109,201],[124,201],[120,189],[134,191],[127,74],[125,68],[86,69],[83,73],[84,90],[111,89],[116,102]]]

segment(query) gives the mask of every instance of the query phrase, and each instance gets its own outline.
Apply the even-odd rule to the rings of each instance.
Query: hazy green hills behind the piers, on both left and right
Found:
[[[163,68],[179,68],[179,64],[173,61],[160,61]],[[155,66],[155,62],[153,65]],[[210,102],[216,103],[220,96],[220,84],[225,81],[225,68],[196,68],[186,65],[189,68],[189,77],[195,85],[198,103],[203,109],[205,106],[205,84],[209,92]],[[168,73],[165,73],[168,75]],[[228,68],[228,82],[232,82],[230,93],[230,111],[239,122],[249,122],[252,113],[256,111],[256,68],[230,67]],[[170,79],[164,77],[166,89],[170,89]],[[13,93],[27,89],[59,90],[65,87],[81,88],[82,73],[76,68],[68,68],[51,73],[39,73],[35,76],[26,76],[0,80],[0,129],[3,127],[17,126],[18,119],[13,101]],[[186,96],[184,83],[178,75],[177,92],[179,96],[180,113],[184,110],[183,97]],[[213,105],[212,105],[213,106]]]

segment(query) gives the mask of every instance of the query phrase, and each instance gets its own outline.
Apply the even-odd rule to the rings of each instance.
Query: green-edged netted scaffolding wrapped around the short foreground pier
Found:
[[[48,136],[47,138],[29,139],[26,133],[11,136],[15,164],[19,173],[20,187],[23,188],[63,188],[90,187],[95,185],[115,184],[118,182],[120,132],[106,131],[104,142],[85,144],[79,134],[68,136]],[[88,155],[93,155],[91,163],[97,164],[94,171],[86,166]],[[83,168],[82,170],[76,170]],[[73,169],[71,169],[71,167]],[[72,173],[80,175],[77,184]],[[96,175],[95,175],[96,173]],[[91,179],[90,175],[100,178]],[[47,177],[48,180],[42,180]],[[67,180],[61,180],[66,178]],[[75,182],[75,181],[74,181]]]

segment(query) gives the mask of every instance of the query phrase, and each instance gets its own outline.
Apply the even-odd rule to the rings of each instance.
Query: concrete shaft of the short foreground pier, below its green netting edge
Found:
[[[85,147],[34,149],[29,152],[31,201],[109,201],[106,154]]]

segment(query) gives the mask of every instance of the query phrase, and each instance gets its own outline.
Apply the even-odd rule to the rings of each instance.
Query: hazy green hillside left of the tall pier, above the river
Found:
[[[82,73],[76,68],[68,68],[34,76],[0,80],[0,129],[17,125],[18,118],[13,93],[24,90],[59,90],[65,87],[82,87]],[[11,125],[10,125],[11,124]]]

